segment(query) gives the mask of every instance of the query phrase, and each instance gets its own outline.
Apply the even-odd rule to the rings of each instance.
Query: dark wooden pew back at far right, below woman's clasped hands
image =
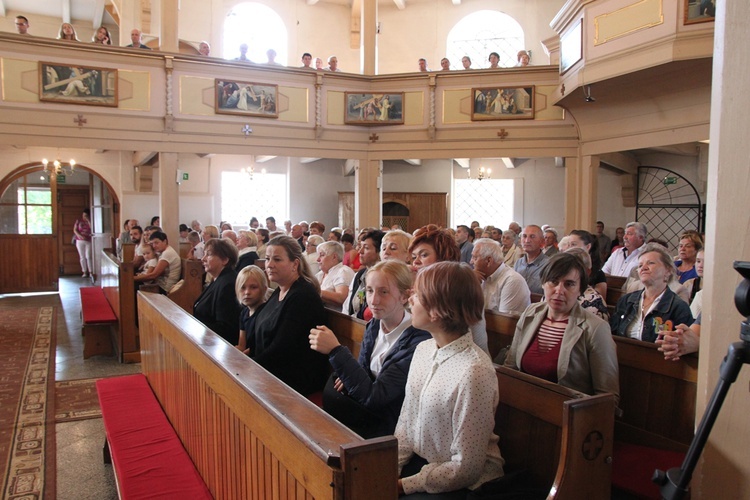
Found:
[[[695,426],[698,356],[667,361],[656,344],[614,339],[623,412],[615,424],[617,441],[686,452]]]

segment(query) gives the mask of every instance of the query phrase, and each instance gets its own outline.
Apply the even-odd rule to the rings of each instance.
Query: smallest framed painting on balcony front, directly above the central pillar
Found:
[[[402,125],[404,93],[361,94],[346,92],[344,123],[348,125]]]

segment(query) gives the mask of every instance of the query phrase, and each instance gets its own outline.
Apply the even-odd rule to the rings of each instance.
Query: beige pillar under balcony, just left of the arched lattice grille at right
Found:
[[[565,233],[596,224],[599,157],[565,158]]]

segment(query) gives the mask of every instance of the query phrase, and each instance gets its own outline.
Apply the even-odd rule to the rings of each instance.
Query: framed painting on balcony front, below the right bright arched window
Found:
[[[534,118],[534,86],[471,89],[471,119],[532,120]]]

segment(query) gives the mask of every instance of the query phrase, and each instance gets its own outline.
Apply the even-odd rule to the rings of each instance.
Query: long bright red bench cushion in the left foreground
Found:
[[[212,498],[143,375],[96,382],[121,498]]]

